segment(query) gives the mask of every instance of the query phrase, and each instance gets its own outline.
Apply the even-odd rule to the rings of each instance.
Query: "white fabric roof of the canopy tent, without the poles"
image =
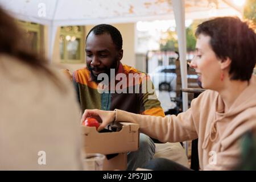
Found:
[[[228,15],[230,10],[239,13],[237,9],[230,9],[227,2],[186,0],[186,16],[195,19],[209,18],[214,12],[218,15]],[[52,22],[56,26],[72,26],[174,19],[172,0],[0,0],[0,4],[19,19],[44,25]]]

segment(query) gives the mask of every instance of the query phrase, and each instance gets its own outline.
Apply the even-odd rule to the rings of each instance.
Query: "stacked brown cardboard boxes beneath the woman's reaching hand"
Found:
[[[111,159],[105,159],[104,170],[125,170],[127,152],[136,151],[139,147],[139,125],[127,122],[119,124],[120,131],[108,133],[99,133],[96,127],[82,126],[82,147],[85,153],[100,153],[108,158],[110,154],[116,155]]]

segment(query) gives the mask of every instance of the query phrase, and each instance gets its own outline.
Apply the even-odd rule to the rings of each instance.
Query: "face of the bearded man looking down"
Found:
[[[116,69],[122,59],[123,50],[117,50],[109,34],[94,35],[90,32],[86,40],[86,65],[94,81],[100,73],[110,75],[110,69]]]

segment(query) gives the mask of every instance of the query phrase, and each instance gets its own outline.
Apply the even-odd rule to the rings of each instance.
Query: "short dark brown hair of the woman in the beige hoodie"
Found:
[[[256,64],[256,34],[237,17],[221,17],[199,24],[196,37],[210,36],[210,46],[219,59],[232,60],[231,80],[250,80]]]

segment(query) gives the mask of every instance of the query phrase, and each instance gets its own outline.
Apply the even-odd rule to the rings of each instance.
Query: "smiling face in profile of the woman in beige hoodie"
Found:
[[[191,67],[200,75],[204,89],[220,89],[220,59],[210,46],[210,36],[200,34],[196,41],[196,56],[191,61]]]

